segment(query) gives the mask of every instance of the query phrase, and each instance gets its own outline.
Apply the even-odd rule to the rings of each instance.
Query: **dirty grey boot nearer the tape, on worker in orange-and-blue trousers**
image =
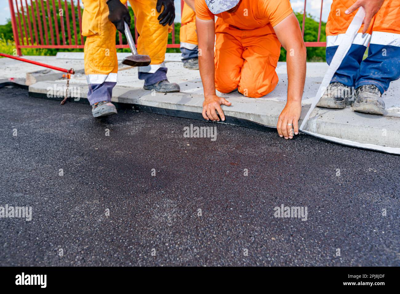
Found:
[[[350,88],[342,83],[334,82],[329,84],[320,101],[318,101],[318,107],[323,108],[335,108],[342,109],[346,105],[350,105],[348,102],[351,98]]]

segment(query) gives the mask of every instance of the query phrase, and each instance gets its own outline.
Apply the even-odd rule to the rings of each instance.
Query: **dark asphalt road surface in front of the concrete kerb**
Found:
[[[32,208],[0,218],[1,266],[400,265],[399,156],[144,112],[95,119],[16,88],[0,102],[0,206]],[[216,140],[185,138],[190,124]],[[282,205],[303,217],[275,217]]]

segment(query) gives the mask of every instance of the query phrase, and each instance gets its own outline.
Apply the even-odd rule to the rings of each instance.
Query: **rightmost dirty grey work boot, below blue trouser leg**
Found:
[[[375,85],[363,85],[356,89],[352,108],[354,111],[380,114],[385,111],[382,94]]]

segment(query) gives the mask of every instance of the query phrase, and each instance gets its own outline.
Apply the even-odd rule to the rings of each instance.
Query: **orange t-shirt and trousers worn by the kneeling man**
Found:
[[[270,93],[278,84],[275,72],[280,42],[272,28],[293,12],[289,0],[242,0],[235,12],[216,14],[215,86],[222,93],[236,88],[248,97]],[[196,17],[212,20],[204,0],[196,0]]]

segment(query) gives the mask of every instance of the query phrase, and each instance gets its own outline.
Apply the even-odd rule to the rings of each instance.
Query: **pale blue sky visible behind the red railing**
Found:
[[[255,0],[257,1],[257,0]],[[276,1],[276,0],[274,0]],[[22,1],[25,2],[25,1]],[[30,3],[30,0],[28,0]],[[304,0],[291,0],[292,8],[296,12],[302,12],[304,9]],[[18,1],[19,4],[19,1]],[[322,20],[326,21],[328,18],[330,4],[332,0],[324,0],[324,6],[322,10]],[[180,20],[180,0],[175,0],[176,7],[176,18],[175,20]],[[320,16],[321,0],[308,0],[306,12],[315,16],[318,20]],[[5,24],[7,19],[10,18],[10,9],[8,8],[8,0],[0,0],[0,24]]]

